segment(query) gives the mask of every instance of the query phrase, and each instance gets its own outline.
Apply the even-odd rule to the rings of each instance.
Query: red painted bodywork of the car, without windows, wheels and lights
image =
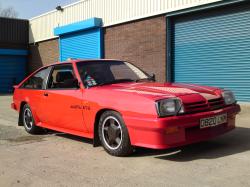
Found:
[[[215,87],[172,83],[120,83],[84,88],[76,63],[72,63],[80,89],[31,90],[15,87],[11,107],[20,111],[22,102],[30,105],[37,126],[94,138],[97,113],[104,110],[119,112],[128,128],[131,144],[154,149],[181,146],[224,134],[235,128],[235,116],[240,112],[237,104],[212,111],[160,118],[155,101],[179,97],[183,102],[205,100],[204,94],[221,96]],[[36,72],[34,72],[36,73]],[[33,73],[33,74],[34,74]],[[32,74],[32,75],[33,75]],[[30,76],[32,76],[30,75]],[[177,90],[169,92],[168,89]],[[177,88],[177,89],[176,89]],[[178,89],[180,92],[178,92]],[[44,96],[48,94],[48,97]],[[201,118],[227,113],[228,122],[216,127],[200,129]],[[169,127],[178,131],[167,133]]]

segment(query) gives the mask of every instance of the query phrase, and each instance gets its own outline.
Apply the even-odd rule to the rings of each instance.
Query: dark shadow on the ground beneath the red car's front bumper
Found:
[[[132,157],[154,156],[157,159],[187,162],[197,159],[216,159],[250,150],[250,128],[237,127],[221,137],[166,150],[137,148]]]

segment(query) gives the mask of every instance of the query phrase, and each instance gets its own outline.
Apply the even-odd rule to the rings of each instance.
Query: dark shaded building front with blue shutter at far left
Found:
[[[26,74],[29,21],[0,18],[0,93],[13,90]]]

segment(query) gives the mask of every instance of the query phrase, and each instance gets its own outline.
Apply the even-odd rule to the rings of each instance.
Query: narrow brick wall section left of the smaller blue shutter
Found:
[[[55,63],[59,60],[58,39],[47,40],[30,45],[28,73],[41,66]]]

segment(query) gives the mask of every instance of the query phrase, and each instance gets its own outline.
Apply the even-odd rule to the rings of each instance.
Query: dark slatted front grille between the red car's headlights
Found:
[[[208,101],[184,103],[186,114],[217,110],[223,108],[224,106],[224,100],[222,97],[210,99]]]

